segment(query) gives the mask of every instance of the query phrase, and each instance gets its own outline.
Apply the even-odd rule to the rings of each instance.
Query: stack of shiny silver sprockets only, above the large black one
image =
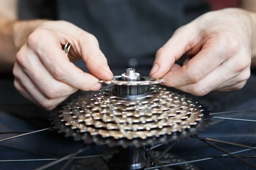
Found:
[[[196,102],[162,87],[136,100],[113,96],[112,88],[68,103],[60,115],[64,124],[92,136],[146,139],[189,129],[203,116]]]

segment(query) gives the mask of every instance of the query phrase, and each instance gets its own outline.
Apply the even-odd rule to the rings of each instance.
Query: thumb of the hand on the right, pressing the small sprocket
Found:
[[[186,51],[189,51],[200,41],[194,23],[183,26],[157,51],[153,68],[150,71],[152,78],[163,77]]]

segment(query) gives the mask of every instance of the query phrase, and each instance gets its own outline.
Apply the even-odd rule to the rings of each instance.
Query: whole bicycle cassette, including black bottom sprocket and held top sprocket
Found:
[[[154,145],[188,137],[209,122],[198,102],[166,90],[163,79],[141,77],[128,68],[99,91],[87,93],[53,114],[53,125],[66,136],[109,146]]]

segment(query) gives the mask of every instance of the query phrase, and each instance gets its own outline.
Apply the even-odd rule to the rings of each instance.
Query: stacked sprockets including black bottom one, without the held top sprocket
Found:
[[[91,93],[90,96],[80,96],[79,99],[74,99],[62,107],[59,113],[52,114],[52,125],[58,129],[58,133],[64,133],[66,137],[73,136],[76,141],[83,140],[85,144],[141,147],[198,135],[199,131],[209,126],[207,108],[198,102],[192,102],[183,96],[166,91],[165,88],[158,88],[159,94],[148,95],[148,98],[136,102],[104,96],[103,91],[108,88],[109,86],[105,86],[101,91]],[[123,105],[121,105],[122,101]],[[169,102],[172,104],[169,105]],[[113,103],[119,104],[118,107],[109,107]],[[172,109],[170,110],[169,107]],[[118,110],[111,113],[113,109]],[[145,112],[143,109],[148,109],[150,112]],[[174,120],[173,125],[168,122],[170,119]],[[186,123],[182,125],[183,122]],[[122,136],[121,133],[113,133],[115,130],[118,132],[119,129]],[[131,134],[130,131],[133,133]],[[113,134],[115,135],[112,136]]]

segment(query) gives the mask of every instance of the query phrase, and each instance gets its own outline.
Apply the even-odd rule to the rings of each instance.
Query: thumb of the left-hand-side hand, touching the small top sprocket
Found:
[[[86,34],[84,37],[81,37],[79,41],[81,45],[82,59],[86,64],[88,71],[99,79],[113,79],[113,73],[108,66],[106,57],[99,49],[97,39],[91,34]]]

